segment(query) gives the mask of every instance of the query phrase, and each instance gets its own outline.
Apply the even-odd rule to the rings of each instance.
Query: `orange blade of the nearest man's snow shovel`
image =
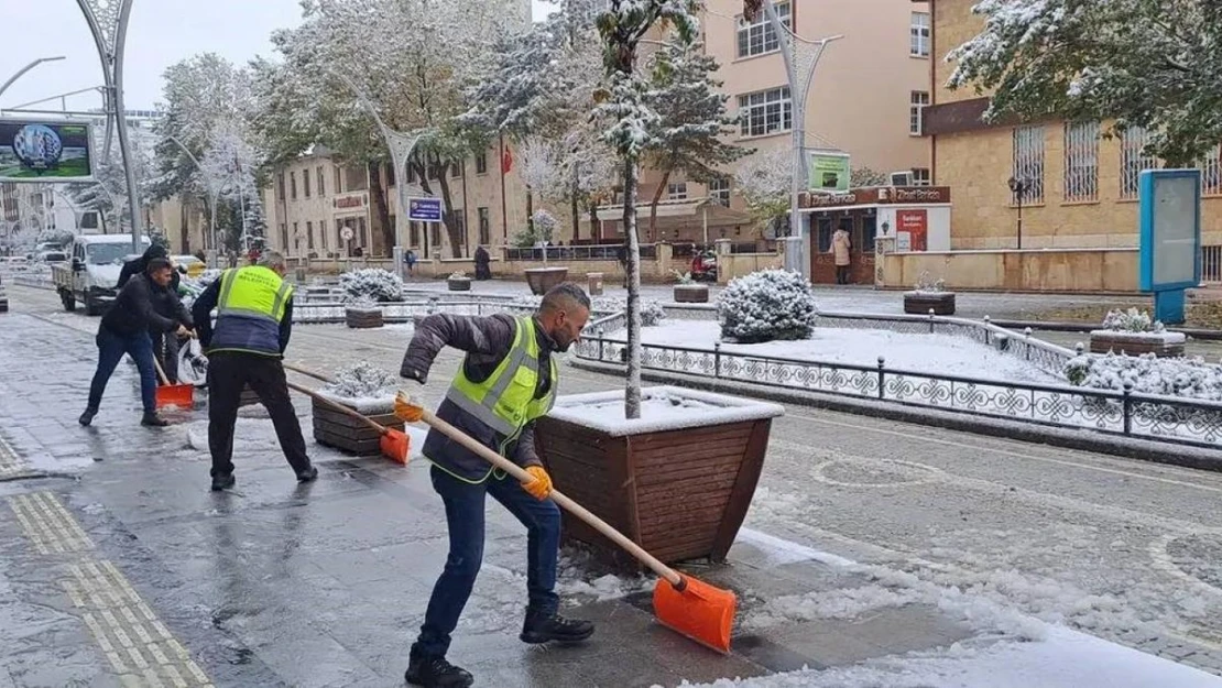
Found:
[[[657,621],[688,638],[730,654],[730,631],[734,626],[738,598],[730,590],[715,588],[684,576],[683,590],[661,579],[654,588],[654,613]]]

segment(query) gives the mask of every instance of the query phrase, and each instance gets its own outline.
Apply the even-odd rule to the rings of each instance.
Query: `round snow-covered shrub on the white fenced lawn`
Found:
[[[752,273],[717,296],[721,336],[741,343],[804,340],[816,314],[810,284],[788,270]]]

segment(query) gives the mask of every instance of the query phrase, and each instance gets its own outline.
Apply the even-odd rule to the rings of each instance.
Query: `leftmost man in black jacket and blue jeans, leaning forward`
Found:
[[[188,335],[186,328],[160,315],[153,308],[154,287],[169,286],[172,273],[174,269],[165,258],[149,260],[145,274],[131,277],[120,290],[114,306],[103,315],[95,339],[98,370],[89,385],[89,404],[79,418],[82,425],[93,423],[93,417],[98,414],[98,407],[101,404],[101,395],[106,391],[106,382],[110,381],[125,353],[136,360],[136,368],[141,371],[141,401],[144,404],[141,424],[154,428],[167,425],[156,414],[156,371],[153,365],[153,340],[149,337],[149,331],[177,330],[180,335]]]

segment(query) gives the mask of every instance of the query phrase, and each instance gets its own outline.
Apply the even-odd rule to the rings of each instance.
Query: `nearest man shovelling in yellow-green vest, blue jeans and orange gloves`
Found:
[[[501,452],[534,479],[518,483],[494,472],[474,452],[429,431],[423,453],[433,462],[433,489],[445,503],[450,555],[412,645],[406,675],[411,684],[466,688],[474,682],[469,672],[446,660],[446,653],[484,556],[484,502],[489,495],[527,527],[528,602],[518,638],[529,644],[574,643],[594,634],[593,623],[557,613],[560,508],[547,500],[551,478],[534,442],[534,422],[556,398],[555,357],[578,340],[589,317],[589,297],[566,282],[544,296],[534,317],[442,313],[417,325],[400,375],[423,385],[441,348],[467,352],[437,417]],[[396,402],[396,413],[411,417],[401,402]]]

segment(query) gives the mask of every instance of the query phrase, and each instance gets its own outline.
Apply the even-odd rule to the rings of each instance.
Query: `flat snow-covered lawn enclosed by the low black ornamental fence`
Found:
[[[712,348],[720,339],[717,323],[664,321],[644,328],[646,345]],[[623,331],[610,335],[624,339]],[[771,358],[875,367],[885,357],[887,369],[958,375],[986,380],[1052,382],[1056,378],[979,342],[951,335],[910,335],[887,330],[815,328],[809,340],[758,345],[722,343],[721,351]]]

